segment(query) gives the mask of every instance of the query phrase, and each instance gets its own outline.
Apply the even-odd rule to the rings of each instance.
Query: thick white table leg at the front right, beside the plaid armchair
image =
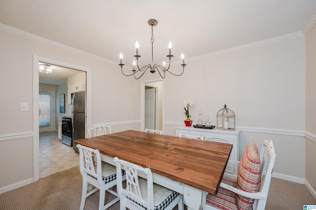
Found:
[[[188,210],[203,210],[205,207],[207,192],[195,187],[184,185],[183,200]]]

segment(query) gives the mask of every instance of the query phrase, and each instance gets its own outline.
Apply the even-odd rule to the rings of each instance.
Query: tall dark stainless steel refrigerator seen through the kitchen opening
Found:
[[[79,152],[74,140],[85,138],[85,91],[74,93],[72,118],[73,148]]]

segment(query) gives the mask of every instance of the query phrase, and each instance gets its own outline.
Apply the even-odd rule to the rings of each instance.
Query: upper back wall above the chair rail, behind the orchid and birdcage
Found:
[[[177,66],[173,67],[176,68]],[[182,101],[216,123],[228,105],[239,127],[305,128],[305,38],[303,35],[187,61],[184,75],[165,79],[165,121],[185,120]],[[172,105],[171,105],[172,104]]]

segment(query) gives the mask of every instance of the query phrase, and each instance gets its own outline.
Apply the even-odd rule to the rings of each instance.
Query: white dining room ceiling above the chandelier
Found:
[[[0,0],[0,23],[132,66],[161,64],[172,41],[172,61],[301,32],[316,0]],[[165,61],[167,61],[165,59]],[[119,67],[118,67],[119,68]]]

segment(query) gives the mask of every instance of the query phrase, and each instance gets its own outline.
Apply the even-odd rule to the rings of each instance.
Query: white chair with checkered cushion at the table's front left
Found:
[[[115,166],[102,162],[100,152],[86,146],[77,144],[79,148],[79,169],[82,175],[82,195],[80,210],[84,209],[85,199],[97,190],[100,190],[99,210],[105,210],[119,201],[118,193],[111,188],[117,184],[117,169]],[[96,166],[94,160],[96,159]],[[125,179],[125,171],[120,171],[121,180]],[[88,183],[93,189],[88,192]],[[113,201],[104,205],[105,193],[115,195]]]

